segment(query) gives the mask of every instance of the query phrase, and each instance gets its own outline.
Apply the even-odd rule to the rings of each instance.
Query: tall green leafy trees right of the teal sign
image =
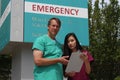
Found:
[[[91,8],[92,6],[92,8]],[[89,50],[95,61],[92,63],[91,80],[113,80],[120,75],[120,45],[117,40],[120,6],[117,0],[107,4],[89,0]]]

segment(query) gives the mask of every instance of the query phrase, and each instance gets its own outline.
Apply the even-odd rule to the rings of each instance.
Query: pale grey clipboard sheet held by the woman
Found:
[[[83,65],[82,59],[80,59],[80,51],[74,52],[71,54],[69,63],[66,67],[65,72],[79,72],[81,70],[81,67]]]

